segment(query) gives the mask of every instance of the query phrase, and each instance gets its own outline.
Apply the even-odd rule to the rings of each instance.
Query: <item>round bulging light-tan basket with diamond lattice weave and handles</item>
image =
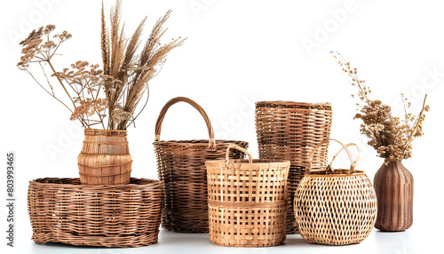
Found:
[[[337,155],[345,149],[352,162],[350,170],[333,170],[331,163],[335,155],[324,171],[311,171],[309,164],[297,188],[296,220],[300,234],[308,243],[345,245],[362,242],[375,226],[375,189],[363,171],[355,171],[359,148],[353,162],[347,147],[356,145],[339,143],[343,148]],[[320,146],[321,143],[316,148]]]

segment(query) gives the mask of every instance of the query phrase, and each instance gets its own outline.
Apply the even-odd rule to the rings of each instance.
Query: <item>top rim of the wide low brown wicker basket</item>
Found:
[[[59,180],[60,182],[57,183],[44,183],[42,182],[45,179],[51,179],[51,180]],[[66,180],[79,180],[79,184],[66,184],[62,183],[61,181]],[[137,183],[131,183],[132,181],[139,181],[139,180],[147,180],[148,183],[144,184],[137,184]],[[70,187],[70,188],[77,188],[77,189],[115,189],[115,188],[133,188],[133,187],[148,187],[148,186],[155,186],[160,185],[162,186],[162,181],[155,180],[155,179],[136,179],[131,178],[131,182],[127,184],[118,184],[118,185],[83,185],[80,184],[79,178],[41,178],[41,179],[33,179],[29,181],[29,185],[35,185],[35,186],[53,186],[53,187]]]

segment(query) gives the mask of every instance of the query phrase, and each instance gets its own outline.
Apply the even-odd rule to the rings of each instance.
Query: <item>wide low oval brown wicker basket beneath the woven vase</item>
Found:
[[[139,247],[157,242],[162,182],[81,185],[79,179],[29,182],[32,240],[101,247]]]

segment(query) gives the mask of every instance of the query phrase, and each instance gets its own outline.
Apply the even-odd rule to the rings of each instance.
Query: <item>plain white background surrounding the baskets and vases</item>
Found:
[[[43,3],[43,4],[42,4]],[[106,0],[108,10],[114,1]],[[370,179],[383,163],[359,133],[355,89],[330,51],[341,52],[372,89],[372,98],[392,106],[403,117],[400,93],[412,101],[416,114],[424,93],[432,110],[424,123],[425,135],[414,142],[413,158],[404,165],[415,177],[414,224],[406,232],[381,233],[376,229],[361,244],[346,247],[309,245],[290,235],[280,247],[229,249],[212,245],[207,234],[162,232],[160,242],[130,250],[47,246],[32,242],[27,213],[27,187],[31,179],[77,177],[76,158],[83,134],[80,125],[44,93],[15,64],[20,39],[31,28],[55,24],[73,38],[55,61],[61,69],[75,60],[99,63],[99,1],[8,1],[0,10],[2,31],[1,156],[17,153],[16,247],[2,250],[23,253],[48,251],[114,253],[132,251],[248,251],[298,253],[424,253],[440,251],[442,235],[442,107],[444,83],[444,4],[441,1],[123,1],[123,20],[130,35],[143,17],[149,30],[172,9],[165,42],[187,36],[186,44],[170,53],[160,75],[149,84],[151,97],[129,130],[133,177],[156,179],[155,119],[163,105],[176,96],[194,99],[207,111],[217,139],[250,142],[257,157],[254,102],[293,100],[333,104],[332,137],[355,142],[362,149],[359,169]],[[304,42],[310,41],[312,48]],[[435,75],[433,75],[435,73]],[[80,132],[80,133],[79,133]],[[181,103],[170,108],[163,122],[162,139],[207,139],[201,116]],[[54,148],[56,147],[56,148]],[[50,151],[52,148],[52,152]],[[54,149],[56,152],[54,152]],[[337,149],[332,146],[331,149]],[[2,160],[2,159],[0,159]],[[345,160],[342,161],[346,166]],[[338,166],[340,166],[338,163]],[[5,165],[2,167],[5,169]],[[0,173],[2,198],[4,175]],[[0,206],[0,232],[6,229],[5,204]],[[0,234],[4,235],[4,233]]]

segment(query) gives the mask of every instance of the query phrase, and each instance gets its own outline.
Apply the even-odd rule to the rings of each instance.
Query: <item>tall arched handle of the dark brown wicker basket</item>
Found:
[[[216,147],[216,140],[214,139],[214,131],[213,131],[213,126],[211,125],[210,122],[210,118],[208,117],[207,113],[205,113],[205,110],[203,110],[203,108],[199,104],[197,104],[193,99],[188,99],[186,97],[176,97],[170,99],[170,101],[168,101],[165,104],[165,106],[163,106],[161,114],[159,115],[159,117],[157,117],[157,121],[155,122],[155,142],[161,139],[162,123],[163,123],[163,118],[165,118],[166,112],[172,105],[180,101],[188,103],[189,105],[197,109],[199,113],[201,113],[203,120],[205,120],[205,123],[207,124],[208,135],[210,136],[208,147],[214,149]]]

